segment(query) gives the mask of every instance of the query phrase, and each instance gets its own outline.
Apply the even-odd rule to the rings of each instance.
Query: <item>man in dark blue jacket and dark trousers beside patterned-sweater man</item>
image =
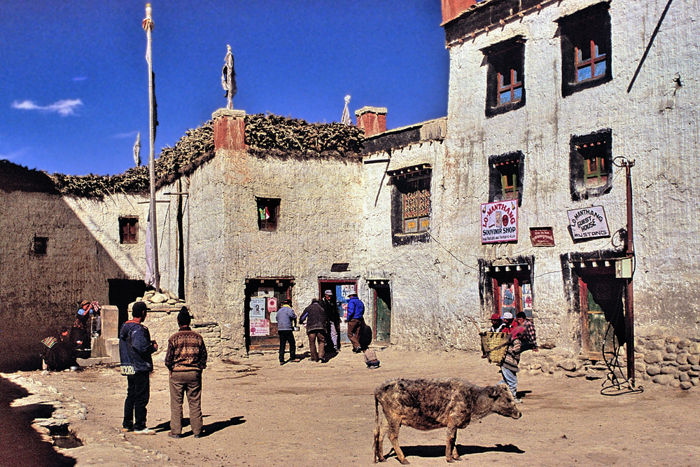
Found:
[[[151,333],[143,324],[146,311],[146,303],[134,303],[132,319],[124,323],[119,331],[120,370],[127,377],[122,430],[154,435],[155,431],[146,428],[146,405],[151,397],[152,355],[158,351],[158,342],[151,340]]]

